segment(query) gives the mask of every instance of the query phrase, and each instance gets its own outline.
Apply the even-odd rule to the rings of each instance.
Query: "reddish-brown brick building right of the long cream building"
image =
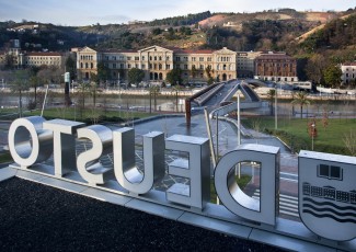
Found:
[[[262,53],[255,59],[254,78],[267,81],[298,81],[297,60],[286,53]]]

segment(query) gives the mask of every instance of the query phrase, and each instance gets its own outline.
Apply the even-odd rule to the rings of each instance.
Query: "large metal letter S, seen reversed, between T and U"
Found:
[[[92,125],[87,128],[79,128],[78,138],[89,138],[93,145],[90,150],[80,153],[77,158],[79,174],[89,184],[104,184],[114,175],[112,174],[113,169],[104,168],[99,162],[99,158],[113,150],[112,130],[102,125]]]

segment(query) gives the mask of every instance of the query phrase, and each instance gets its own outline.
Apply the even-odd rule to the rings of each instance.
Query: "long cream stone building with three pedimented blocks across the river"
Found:
[[[79,79],[97,75],[97,64],[110,69],[110,81],[127,80],[131,68],[145,71],[145,81],[165,81],[166,73],[174,68],[182,70],[185,82],[207,80],[206,69],[210,67],[214,79],[221,81],[237,78],[237,53],[220,50],[188,50],[150,46],[139,50],[94,50],[90,47],[73,49],[77,53]]]

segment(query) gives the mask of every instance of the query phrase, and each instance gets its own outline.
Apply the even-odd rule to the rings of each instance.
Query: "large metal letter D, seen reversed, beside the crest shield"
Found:
[[[261,202],[245,195],[236,183],[232,168],[243,161],[261,163]],[[222,204],[233,214],[274,226],[279,198],[279,148],[239,146],[220,159],[215,169],[215,187]]]

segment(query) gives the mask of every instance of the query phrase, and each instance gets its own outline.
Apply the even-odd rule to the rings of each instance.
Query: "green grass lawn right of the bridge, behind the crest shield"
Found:
[[[308,124],[312,118],[279,118],[278,130],[275,130],[275,119],[266,118],[248,118],[241,123],[248,128],[259,128],[260,131],[272,133],[280,137],[289,146],[298,144],[302,149],[311,150],[312,138],[308,133]],[[256,126],[257,125],[257,126]],[[351,154],[345,147],[345,139],[356,136],[355,118],[329,118],[328,126],[323,126],[323,119],[315,119],[317,136],[314,140],[314,150],[341,154]],[[354,137],[352,137],[354,136]],[[356,145],[356,140],[353,142]],[[299,151],[298,148],[295,149]]]

